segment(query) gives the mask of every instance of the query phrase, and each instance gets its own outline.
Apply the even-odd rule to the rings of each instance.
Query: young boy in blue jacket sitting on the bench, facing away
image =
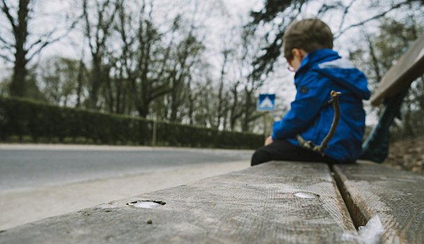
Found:
[[[341,59],[333,48],[333,34],[317,19],[301,20],[288,26],[283,37],[284,57],[295,71],[297,94],[290,111],[274,122],[265,146],[253,154],[251,165],[271,160],[345,163],[361,153],[365,112],[362,100],[370,98],[367,79],[350,61]],[[331,91],[341,96],[340,121],[324,156],[299,146],[296,136],[320,145],[329,132],[334,109]]]

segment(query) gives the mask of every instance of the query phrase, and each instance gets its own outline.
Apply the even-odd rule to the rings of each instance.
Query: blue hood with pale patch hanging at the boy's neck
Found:
[[[342,59],[332,49],[320,49],[308,53],[301,62],[298,73],[308,68],[329,77],[339,86],[352,91],[358,98],[364,100],[370,98],[366,76],[354,68],[351,61]]]

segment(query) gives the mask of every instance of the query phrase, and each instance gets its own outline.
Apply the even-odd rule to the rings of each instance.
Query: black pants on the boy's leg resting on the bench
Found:
[[[253,153],[251,165],[259,165],[272,160],[327,162],[331,165],[338,162],[329,156],[322,156],[320,153],[295,146],[288,140],[276,140]]]

